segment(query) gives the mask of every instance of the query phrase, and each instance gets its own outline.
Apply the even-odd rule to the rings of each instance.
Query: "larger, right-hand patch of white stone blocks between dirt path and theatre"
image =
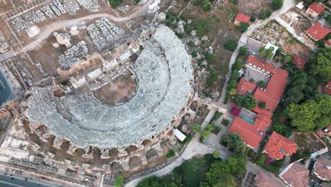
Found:
[[[109,18],[100,18],[88,27],[93,44],[98,50],[104,50],[112,45],[112,41],[124,35],[124,30],[112,23]]]

